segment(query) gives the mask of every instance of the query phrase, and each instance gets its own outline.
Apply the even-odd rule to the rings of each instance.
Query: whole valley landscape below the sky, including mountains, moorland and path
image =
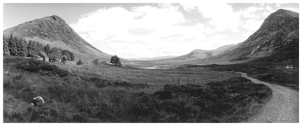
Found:
[[[299,122],[298,21],[278,9],[241,43],[129,59],[95,48],[57,15],[24,22],[3,30],[3,122]]]

